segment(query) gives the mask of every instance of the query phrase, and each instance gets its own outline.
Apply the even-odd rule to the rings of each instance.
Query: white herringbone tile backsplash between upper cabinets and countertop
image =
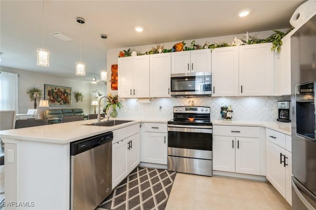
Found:
[[[138,103],[136,99],[122,99],[123,108],[118,110],[118,117],[172,119],[173,106],[188,105],[192,100],[196,106],[210,106],[211,119],[221,118],[221,106],[232,105],[233,120],[276,121],[277,101],[289,100],[289,96],[153,98],[149,104]],[[270,104],[272,110],[268,110]]]

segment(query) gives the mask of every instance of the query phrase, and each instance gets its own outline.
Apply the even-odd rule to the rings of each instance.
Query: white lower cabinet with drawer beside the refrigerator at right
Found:
[[[292,153],[286,150],[285,139],[290,139],[285,134],[267,129],[266,140],[266,177],[276,190],[292,204],[291,175]]]

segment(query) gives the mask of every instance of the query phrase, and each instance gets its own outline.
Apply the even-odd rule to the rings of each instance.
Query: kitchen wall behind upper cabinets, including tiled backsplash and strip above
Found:
[[[286,32],[285,30],[279,30]],[[258,38],[267,38],[274,34],[273,31],[265,31],[260,33],[251,33],[251,35],[257,34]],[[210,44],[227,42],[231,44],[234,38],[242,39],[244,34],[239,35],[227,35],[211,38],[196,39],[196,44],[204,45],[206,41]],[[160,43],[160,46],[164,46],[166,49],[171,49],[175,43],[182,42],[182,40]],[[192,40],[185,40],[186,46],[190,46]],[[149,51],[152,45],[143,45],[130,47],[145,53]],[[113,49],[107,51],[107,69],[108,69],[108,81],[111,79],[111,65],[118,64],[118,53],[128,48]],[[119,67],[118,67],[119,71]],[[107,86],[108,93],[117,93],[117,91],[111,90],[110,82]],[[170,120],[173,118],[173,106],[188,105],[190,100],[194,100],[195,105],[210,106],[211,107],[211,119],[220,119],[220,107],[223,105],[232,105],[233,108],[233,120],[246,120],[246,121],[276,121],[277,119],[277,101],[289,100],[289,97],[199,97],[199,98],[164,98],[164,99],[152,99],[149,104],[138,103],[137,99],[121,99],[123,108],[118,110],[118,117],[132,117],[132,118],[157,118]],[[268,110],[268,105],[272,105],[272,110]],[[159,110],[161,105],[162,110]]]

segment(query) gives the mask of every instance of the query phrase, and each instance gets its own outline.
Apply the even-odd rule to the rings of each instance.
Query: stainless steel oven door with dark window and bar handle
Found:
[[[168,155],[212,159],[212,126],[168,125]]]

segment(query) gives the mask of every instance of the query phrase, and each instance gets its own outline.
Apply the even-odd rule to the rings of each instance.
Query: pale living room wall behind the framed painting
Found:
[[[38,107],[38,113],[40,118],[43,118],[42,112],[47,109],[59,109],[59,108],[83,108],[85,114],[92,114],[94,107],[91,105],[91,101],[94,100],[94,94],[92,91],[98,90],[101,94],[106,94],[106,86],[102,84],[89,84],[79,82],[76,80],[63,79],[54,76],[48,76],[45,74],[34,73],[26,70],[18,70],[7,67],[1,67],[1,71],[7,71],[19,74],[18,77],[18,95],[19,95],[19,113],[27,113],[28,109],[34,108],[34,101],[30,100],[29,94],[26,92],[33,88],[39,88],[44,94],[44,84],[60,85],[64,87],[72,88],[72,105],[71,106],[50,106],[50,107]],[[83,102],[76,102],[74,92],[81,92],[84,96]],[[38,102],[39,105],[39,102]]]

